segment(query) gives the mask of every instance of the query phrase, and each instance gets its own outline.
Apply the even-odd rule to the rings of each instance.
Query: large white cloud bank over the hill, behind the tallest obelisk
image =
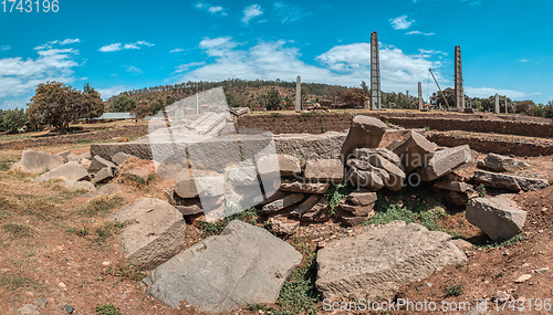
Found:
[[[361,81],[371,78],[371,44],[354,43],[338,45],[319,55],[320,66],[304,63],[300,60],[296,48],[286,46],[289,42],[259,42],[250,49],[238,49],[231,38],[207,39],[200,48],[213,62],[194,64],[177,69],[184,73],[179,82],[186,81],[219,81],[229,77],[243,80],[275,80],[294,81],[301,75],[305,82],[322,82],[358,86]],[[429,67],[439,67],[439,61],[430,57],[407,55],[394,46],[384,46],[380,50],[380,74],[383,91],[415,90],[419,81],[426,82]],[[190,69],[190,70],[189,70]],[[437,74],[440,82],[444,77]]]

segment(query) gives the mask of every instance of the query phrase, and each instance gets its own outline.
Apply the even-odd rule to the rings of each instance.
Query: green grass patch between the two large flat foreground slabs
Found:
[[[282,286],[276,305],[282,307],[282,314],[316,314],[316,302],[320,295],[315,288],[316,281],[316,252],[299,239],[292,240],[292,245],[302,253],[303,260],[300,267]]]

